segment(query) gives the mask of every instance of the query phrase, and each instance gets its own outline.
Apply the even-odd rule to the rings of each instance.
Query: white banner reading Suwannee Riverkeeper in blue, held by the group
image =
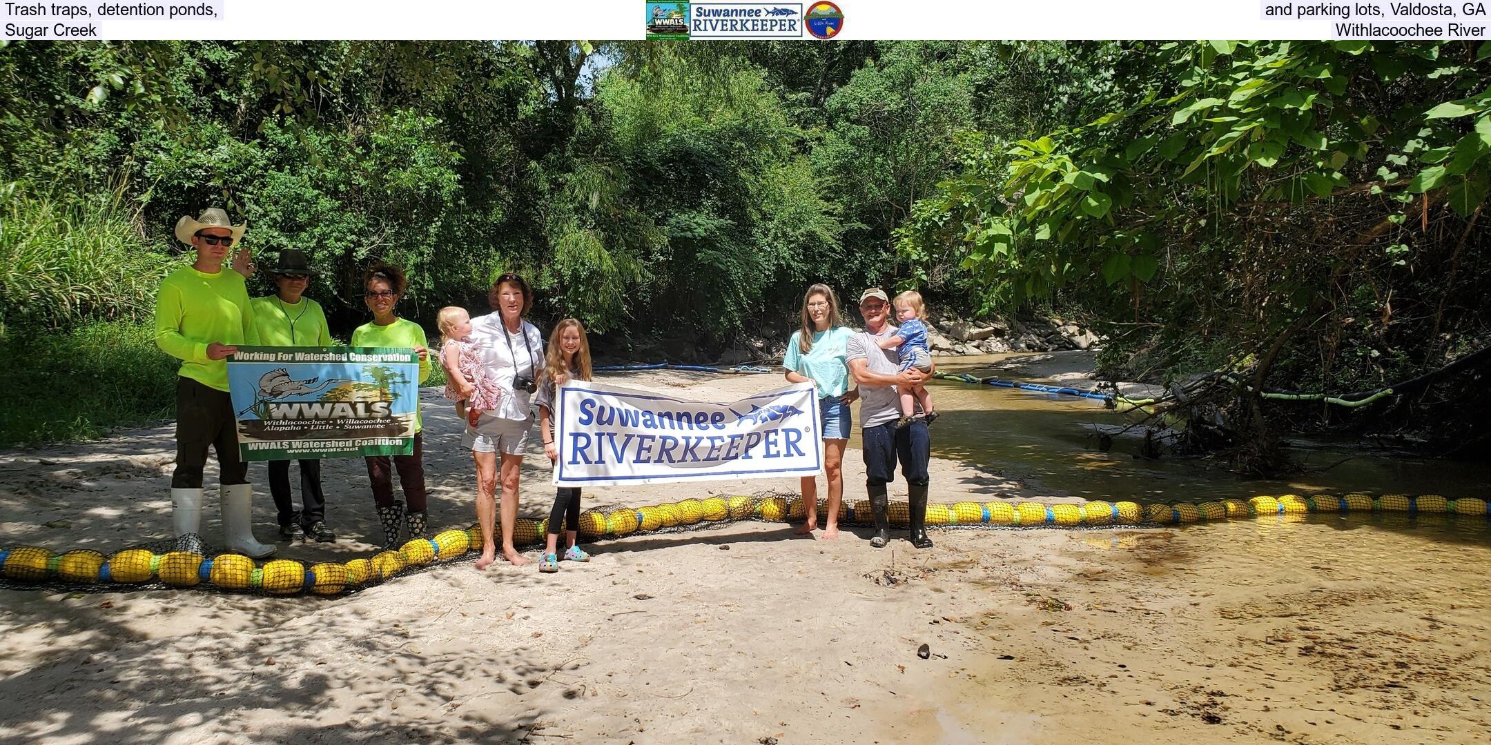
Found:
[[[823,469],[811,383],[708,402],[577,380],[555,398],[556,486],[769,478]]]

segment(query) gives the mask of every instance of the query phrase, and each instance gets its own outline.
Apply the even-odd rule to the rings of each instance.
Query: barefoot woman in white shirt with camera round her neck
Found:
[[[529,396],[543,371],[544,340],[538,328],[523,320],[534,305],[534,294],[517,274],[502,274],[492,283],[488,298],[494,313],[471,320],[471,337],[482,346],[482,361],[502,390],[494,411],[483,411],[476,426],[467,425],[461,443],[476,459],[476,519],[482,526],[482,557],[476,568],[486,569],[497,559],[497,483],[502,483],[502,559],[514,566],[528,563],[513,547],[517,522],[517,477],[523,466],[523,446],[534,426]],[[498,468],[501,453],[501,468]]]

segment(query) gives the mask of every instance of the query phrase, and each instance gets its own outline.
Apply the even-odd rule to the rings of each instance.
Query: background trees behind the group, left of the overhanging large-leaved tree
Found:
[[[860,49],[863,63],[874,46]],[[362,317],[356,277],[376,258],[410,270],[409,311],[426,320],[447,302],[482,307],[491,277],[517,270],[541,316],[686,328],[717,346],[808,280],[890,274],[893,216],[875,221],[868,255],[841,241],[842,173],[814,156],[828,122],[802,118],[828,92],[802,101],[786,88],[799,80],[751,61],[762,52],[790,74],[844,49],[9,43],[0,183],[12,215],[36,212],[25,222],[67,212],[133,228],[109,240],[133,241],[155,268],[180,252],[179,215],[221,204],[250,224],[255,250],[312,255],[327,277],[312,295],[338,326]],[[835,91],[853,72],[839,67]],[[853,146],[835,145],[829,165]],[[9,250],[30,243],[15,225]],[[137,311],[158,273],[136,276],[140,288],[115,298]],[[0,302],[12,329],[73,317],[10,280]]]

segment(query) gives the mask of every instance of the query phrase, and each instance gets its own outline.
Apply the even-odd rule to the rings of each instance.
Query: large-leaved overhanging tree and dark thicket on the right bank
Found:
[[[1197,346],[1214,347],[1190,359],[1203,365],[1278,346],[1293,384],[1409,375],[1487,338],[1488,55],[1124,45],[1109,57],[1124,85],[1081,124],[965,134],[902,255],[959,262],[990,305],[1060,298],[1157,329],[1135,338],[1159,338],[1170,370]]]

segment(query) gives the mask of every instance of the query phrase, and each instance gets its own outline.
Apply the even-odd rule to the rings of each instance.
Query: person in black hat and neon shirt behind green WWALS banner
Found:
[[[259,344],[271,347],[330,347],[331,331],[321,304],[304,297],[310,277],[316,274],[306,253],[295,249],[280,252],[279,265],[271,270],[279,292],[253,298],[253,325]],[[289,496],[289,460],[270,460],[270,493],[279,508],[280,538],[307,538],[330,542],[335,533],[327,527],[327,496],[321,492],[321,460],[300,462],[301,511],[295,513]]]

